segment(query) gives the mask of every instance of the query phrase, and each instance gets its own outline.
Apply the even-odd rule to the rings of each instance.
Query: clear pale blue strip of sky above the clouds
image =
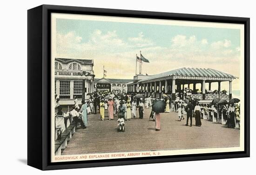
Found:
[[[170,39],[176,35],[187,37],[195,35],[198,40],[206,38],[209,43],[223,39],[230,40],[230,48],[235,49],[240,46],[240,31],[238,29],[204,28],[175,25],[151,25],[138,23],[121,23],[108,21],[56,19],[57,32],[65,34],[75,31],[82,38],[81,42],[87,42],[95,29],[102,33],[116,31],[119,38],[127,41],[128,38],[137,37],[143,32],[146,38],[151,39],[157,46],[168,47],[171,45]]]

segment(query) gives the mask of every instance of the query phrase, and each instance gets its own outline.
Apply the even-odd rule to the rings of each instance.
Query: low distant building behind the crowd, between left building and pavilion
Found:
[[[127,93],[127,83],[132,81],[132,79],[101,78],[95,79],[94,87],[98,91]]]

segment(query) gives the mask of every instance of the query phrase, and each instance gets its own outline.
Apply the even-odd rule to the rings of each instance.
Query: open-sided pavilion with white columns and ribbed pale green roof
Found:
[[[184,85],[193,84],[193,89],[197,83],[201,83],[202,94],[193,94],[194,98],[200,100],[211,100],[215,98],[229,100],[232,98],[232,80],[238,77],[230,75],[215,69],[198,69],[198,68],[181,68],[175,69],[161,74],[151,75],[141,80],[135,80],[128,83],[128,92],[156,94],[156,98],[162,93],[172,94],[175,98],[175,93],[184,88]],[[220,94],[221,82],[229,81],[229,94]],[[218,82],[218,94],[206,94],[205,83]],[[190,88],[190,87],[189,87]]]

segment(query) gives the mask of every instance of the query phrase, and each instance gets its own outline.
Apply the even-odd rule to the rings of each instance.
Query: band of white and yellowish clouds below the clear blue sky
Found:
[[[57,56],[94,59],[96,77],[101,76],[102,66],[109,78],[132,78],[135,74],[135,54],[142,51],[150,63],[143,63],[142,73],[149,75],[181,67],[213,68],[239,77],[239,47],[232,49],[231,41],[224,39],[209,43],[195,35],[176,35],[170,46],[155,45],[141,32],[136,37],[121,39],[116,31],[95,30],[87,41],[74,31],[57,34]],[[228,67],[223,66],[227,65]],[[152,69],[153,67],[154,69]],[[237,68],[237,69],[235,69]]]

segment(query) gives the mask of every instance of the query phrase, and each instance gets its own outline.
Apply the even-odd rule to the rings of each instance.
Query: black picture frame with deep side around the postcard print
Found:
[[[95,161],[50,162],[51,13],[174,19],[244,25],[244,151]],[[27,11],[27,164],[41,170],[249,157],[249,18],[41,5]]]

